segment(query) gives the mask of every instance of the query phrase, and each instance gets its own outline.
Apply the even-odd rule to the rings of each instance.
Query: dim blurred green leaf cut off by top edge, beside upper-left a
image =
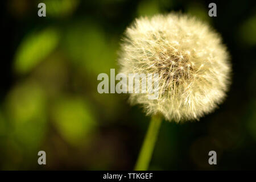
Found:
[[[45,0],[39,1],[46,4],[46,16],[64,17],[76,10],[79,5],[78,0]]]

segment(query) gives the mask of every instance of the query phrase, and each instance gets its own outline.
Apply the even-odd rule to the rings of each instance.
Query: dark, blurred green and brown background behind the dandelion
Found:
[[[208,16],[210,2],[217,17]],[[150,118],[125,94],[99,94],[97,75],[118,71],[120,39],[135,18],[171,11],[221,33],[233,84],[200,122],[163,122],[150,169],[256,169],[255,10],[254,1],[2,2],[0,169],[133,169]],[[217,165],[208,164],[211,150]]]

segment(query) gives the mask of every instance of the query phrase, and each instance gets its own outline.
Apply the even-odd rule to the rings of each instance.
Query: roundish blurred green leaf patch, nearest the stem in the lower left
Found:
[[[96,120],[81,98],[61,98],[52,108],[52,118],[60,135],[71,144],[81,144],[94,132]]]

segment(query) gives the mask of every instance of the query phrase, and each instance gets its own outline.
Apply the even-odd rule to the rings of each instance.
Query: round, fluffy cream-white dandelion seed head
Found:
[[[230,82],[229,53],[220,35],[182,14],[136,19],[125,32],[119,63],[125,74],[158,73],[158,99],[131,93],[130,101],[168,121],[198,120],[212,112]]]

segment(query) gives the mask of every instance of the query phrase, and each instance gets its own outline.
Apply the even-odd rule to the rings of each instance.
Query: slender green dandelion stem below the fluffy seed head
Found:
[[[148,127],[146,137],[139,152],[139,157],[135,165],[135,171],[146,171],[150,163],[152,153],[154,151],[155,142],[158,138],[159,129],[161,126],[162,118],[160,115],[154,115],[151,118],[150,126]]]

